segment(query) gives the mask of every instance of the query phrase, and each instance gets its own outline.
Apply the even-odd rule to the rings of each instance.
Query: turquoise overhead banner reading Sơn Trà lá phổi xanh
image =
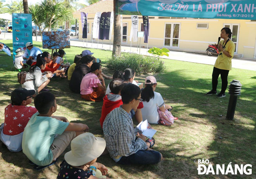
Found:
[[[256,0],[116,0],[116,14],[256,20]]]

